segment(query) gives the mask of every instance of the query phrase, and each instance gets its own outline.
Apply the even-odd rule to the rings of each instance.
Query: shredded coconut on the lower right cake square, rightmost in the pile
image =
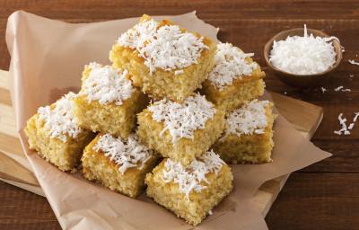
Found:
[[[244,104],[240,109],[232,111],[226,120],[227,128],[224,131],[224,137],[263,134],[267,127],[266,106],[268,103],[268,101],[255,99]]]

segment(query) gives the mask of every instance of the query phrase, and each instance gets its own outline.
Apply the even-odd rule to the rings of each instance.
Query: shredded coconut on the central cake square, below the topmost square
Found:
[[[182,137],[193,139],[193,132],[205,128],[207,119],[213,119],[215,115],[214,105],[199,94],[188,97],[183,103],[163,99],[148,110],[153,113],[153,120],[164,123],[161,136],[169,130],[172,144]]]

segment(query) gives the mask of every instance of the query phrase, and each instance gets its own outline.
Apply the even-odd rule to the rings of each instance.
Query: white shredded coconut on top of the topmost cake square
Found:
[[[202,50],[208,49],[202,37],[181,31],[177,25],[157,26],[153,20],[140,22],[118,39],[119,44],[136,49],[139,57],[144,57],[151,74],[156,68],[171,71],[195,64]]]

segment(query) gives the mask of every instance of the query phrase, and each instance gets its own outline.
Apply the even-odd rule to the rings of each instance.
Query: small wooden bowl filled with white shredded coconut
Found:
[[[334,71],[343,53],[339,40],[304,28],[282,31],[264,49],[267,66],[286,84],[311,87],[322,84]]]

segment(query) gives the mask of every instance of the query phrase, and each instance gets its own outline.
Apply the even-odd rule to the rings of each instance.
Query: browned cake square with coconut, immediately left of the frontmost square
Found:
[[[81,162],[83,177],[98,181],[110,190],[136,198],[144,190],[144,176],[158,164],[159,155],[138,141],[98,134],[85,147]]]

